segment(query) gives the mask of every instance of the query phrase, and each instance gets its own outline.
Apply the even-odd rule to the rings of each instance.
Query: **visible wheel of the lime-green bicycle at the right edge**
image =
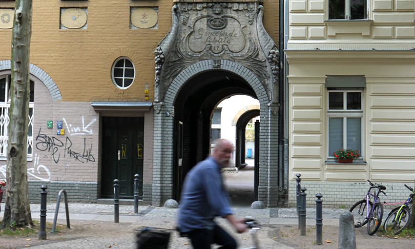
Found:
[[[398,234],[408,226],[410,217],[411,211],[408,207],[402,207],[402,209],[396,207],[388,214],[385,223],[383,223],[383,230]]]

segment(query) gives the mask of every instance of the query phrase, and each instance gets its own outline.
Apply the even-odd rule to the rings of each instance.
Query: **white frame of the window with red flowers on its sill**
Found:
[[[331,92],[342,92],[343,93],[343,109],[338,110],[331,110],[329,107],[329,94]],[[361,109],[360,110],[347,110],[347,93],[348,92],[360,92],[361,94]],[[362,159],[364,156],[364,134],[365,134],[365,122],[364,122],[364,94],[362,89],[347,89],[347,90],[340,90],[340,89],[333,89],[333,90],[327,90],[327,131],[329,131],[330,127],[330,118],[343,118],[343,148],[347,148],[347,118],[360,118],[360,125],[361,125],[361,140],[360,140],[360,150],[359,159]],[[329,145],[329,132],[327,132],[327,154],[329,159],[335,159],[333,154],[330,154],[330,145]],[[353,149],[353,148],[349,148]]]

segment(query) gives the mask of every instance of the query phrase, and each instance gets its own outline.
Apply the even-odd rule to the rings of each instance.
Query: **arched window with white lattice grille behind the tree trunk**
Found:
[[[0,76],[0,158],[7,157],[9,108],[10,108],[11,76]],[[29,127],[27,131],[27,157],[32,157],[33,151],[33,107],[35,83],[30,81],[29,94]]]

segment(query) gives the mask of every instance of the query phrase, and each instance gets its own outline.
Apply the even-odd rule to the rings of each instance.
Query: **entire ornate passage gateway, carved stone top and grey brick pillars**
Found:
[[[154,158],[148,202],[162,205],[173,196],[174,116],[179,93],[194,77],[229,72],[249,85],[260,102],[259,200],[278,202],[279,52],[263,24],[259,1],[176,2],[172,26],[157,47],[154,105]],[[145,197],[144,197],[145,198]]]

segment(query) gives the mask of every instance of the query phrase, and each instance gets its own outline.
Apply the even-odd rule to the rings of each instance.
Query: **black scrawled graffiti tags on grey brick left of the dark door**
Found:
[[[86,145],[86,138],[83,138],[83,149],[77,150],[72,147],[71,139],[66,136],[64,142],[61,138],[55,136],[49,136],[42,133],[42,127],[39,129],[39,133],[36,137],[36,148],[40,151],[50,153],[53,161],[57,164],[61,159],[69,157],[82,163],[95,162],[95,157],[92,155],[92,144]]]

